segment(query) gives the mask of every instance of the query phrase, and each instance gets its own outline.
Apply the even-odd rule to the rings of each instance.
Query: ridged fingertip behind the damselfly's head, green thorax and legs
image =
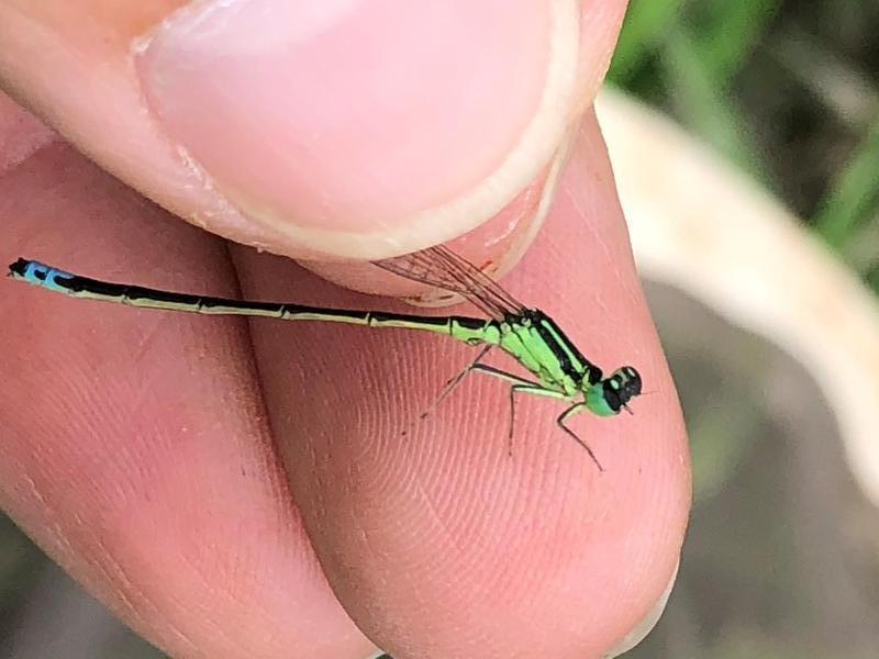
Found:
[[[370,303],[280,260],[237,263],[247,294]],[[679,558],[685,429],[592,115],[545,231],[504,286],[600,366],[632,364],[656,392],[634,402],[634,416],[572,422],[604,473],[554,426],[560,410],[546,401],[520,400],[509,458],[508,392],[497,381],[471,378],[416,422],[475,356],[465,346],[394,331],[253,327],[309,536],[352,617],[398,658],[601,656],[656,603]]]

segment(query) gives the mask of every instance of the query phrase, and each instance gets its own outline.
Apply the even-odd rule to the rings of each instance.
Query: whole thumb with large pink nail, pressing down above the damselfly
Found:
[[[189,222],[375,259],[544,193],[624,4],[0,0],[0,85]]]

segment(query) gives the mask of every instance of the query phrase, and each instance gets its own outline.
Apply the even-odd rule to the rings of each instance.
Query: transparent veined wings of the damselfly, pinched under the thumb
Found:
[[[464,295],[496,321],[526,311],[524,304],[488,275],[442,245],[372,263],[412,281]]]

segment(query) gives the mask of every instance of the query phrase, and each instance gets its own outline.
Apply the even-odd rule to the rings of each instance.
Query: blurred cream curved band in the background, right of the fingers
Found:
[[[879,505],[876,298],[780,202],[672,122],[612,91],[597,109],[642,275],[801,361]]]

